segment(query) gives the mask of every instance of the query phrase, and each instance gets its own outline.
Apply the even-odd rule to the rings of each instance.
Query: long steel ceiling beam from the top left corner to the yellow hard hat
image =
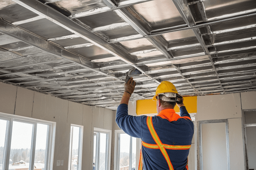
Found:
[[[155,83],[160,84],[160,82],[148,74],[146,74],[145,70],[141,69],[140,67],[137,67],[135,64],[135,59],[129,56],[127,53],[119,49],[118,47],[112,45],[111,43],[108,43],[107,41],[103,40],[102,38],[98,37],[91,31],[87,30],[85,27],[82,27],[81,25],[77,24],[76,22],[72,21],[68,17],[64,16],[62,13],[59,13],[55,9],[52,9],[51,7],[38,2],[37,0],[14,0],[17,4],[20,4],[21,6],[29,9],[30,11],[37,13],[40,16],[45,17],[46,19],[50,20],[51,22],[54,22],[55,24],[63,27],[64,29],[67,29],[74,34],[80,36],[81,38],[84,38],[85,40],[90,41],[94,45],[104,49],[105,51],[108,51],[110,54],[113,54],[114,56],[117,56],[121,58],[121,60],[125,61],[126,63],[132,65],[133,67],[137,68],[142,74],[147,76],[149,79],[155,81]],[[111,2],[112,3],[112,2]],[[81,60],[81,59],[80,59]]]

